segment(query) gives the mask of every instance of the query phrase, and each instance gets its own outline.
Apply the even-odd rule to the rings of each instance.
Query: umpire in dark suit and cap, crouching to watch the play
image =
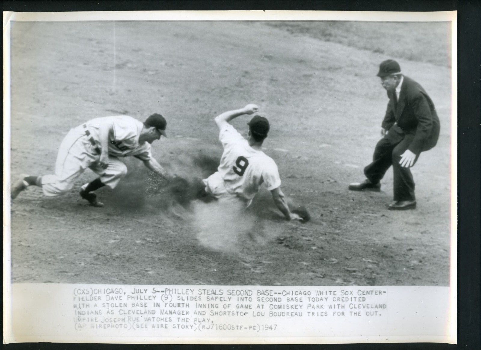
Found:
[[[439,137],[439,118],[426,91],[404,76],[399,63],[386,60],[378,76],[389,98],[381,124],[382,138],[374,150],[372,162],[364,168],[366,180],[349,185],[354,191],[380,191],[380,180],[392,165],[394,201],[390,210],[416,208],[414,179],[410,167],[419,154],[433,148]]]

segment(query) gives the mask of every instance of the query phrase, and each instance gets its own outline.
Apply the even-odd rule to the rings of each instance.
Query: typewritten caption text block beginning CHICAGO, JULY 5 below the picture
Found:
[[[268,336],[304,322],[381,320],[387,294],[382,287],[76,287],[73,327]]]

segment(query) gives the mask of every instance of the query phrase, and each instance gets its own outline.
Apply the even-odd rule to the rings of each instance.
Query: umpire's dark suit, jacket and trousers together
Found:
[[[399,161],[405,150],[415,153],[418,160],[419,153],[436,145],[439,118],[426,91],[407,76],[404,76],[397,106],[393,95],[388,91],[389,102],[382,121],[382,128],[388,133],[376,145],[373,161],[364,168],[364,174],[377,184],[392,165],[394,200],[416,200],[413,175]]]

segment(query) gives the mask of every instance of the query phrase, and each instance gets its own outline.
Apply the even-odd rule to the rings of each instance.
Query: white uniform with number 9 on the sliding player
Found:
[[[276,163],[255,150],[230,124],[219,132],[224,153],[217,172],[204,179],[205,190],[219,200],[242,200],[250,204],[262,183],[270,191],[280,186]]]

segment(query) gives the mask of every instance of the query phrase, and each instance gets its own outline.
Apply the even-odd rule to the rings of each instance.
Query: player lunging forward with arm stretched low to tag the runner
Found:
[[[45,196],[60,196],[71,190],[77,178],[89,168],[99,177],[82,186],[80,196],[90,205],[100,207],[92,191],[103,186],[115,188],[127,174],[120,159],[133,156],[147,168],[167,178],[164,168],[152,158],[151,144],[166,136],[165,118],[152,114],[144,123],[128,115],[92,119],[71,129],[63,139],[55,163],[54,175],[21,175],[12,186],[11,198],[30,185],[41,187]]]

